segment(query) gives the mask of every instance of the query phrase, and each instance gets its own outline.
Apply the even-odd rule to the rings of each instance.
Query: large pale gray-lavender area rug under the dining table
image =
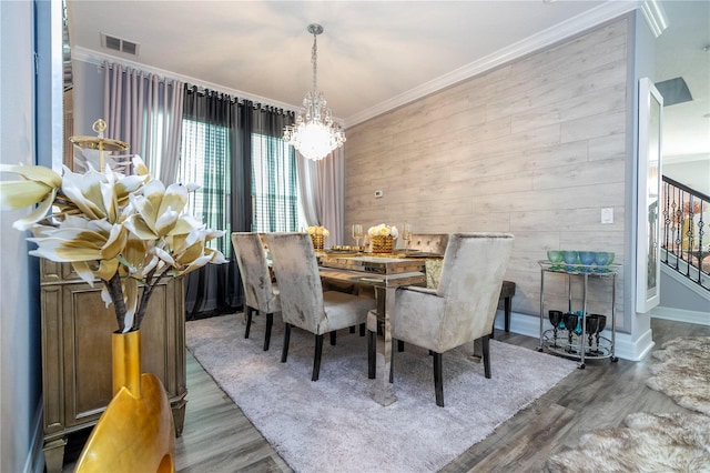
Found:
[[[445,407],[434,399],[432,356],[407,345],[395,355],[397,402],[371,397],[366,338],[338,332],[311,381],[313,335],[292,331],[281,363],[283,324],[262,351],[263,319],[244,339],[242,314],[187,322],[187,348],[296,472],[434,472],[576,370],[577,363],[490,342],[493,379],[473,343],[444,355]],[[377,373],[382,376],[383,373]]]

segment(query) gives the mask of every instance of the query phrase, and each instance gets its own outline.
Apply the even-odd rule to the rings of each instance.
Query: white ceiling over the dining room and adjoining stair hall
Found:
[[[295,109],[312,88],[310,23],[320,23],[317,85],[345,127],[616,18],[636,1],[65,0],[72,58],[140,67]],[[710,154],[710,2],[662,3],[657,81],[682,76],[693,101],[667,127]],[[109,50],[101,33],[135,42]],[[674,110],[673,110],[674,109]],[[668,143],[668,139],[666,139]],[[674,140],[672,140],[674,141]],[[668,151],[668,150],[667,150]],[[680,151],[679,151],[680,152]],[[682,151],[686,153],[686,151]]]

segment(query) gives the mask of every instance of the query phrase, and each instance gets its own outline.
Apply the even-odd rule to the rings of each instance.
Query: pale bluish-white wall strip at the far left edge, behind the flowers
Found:
[[[0,161],[34,163],[33,2],[0,1]],[[0,469],[34,470],[33,427],[40,386],[37,273],[24,234],[0,215]],[[34,262],[36,263],[36,262]]]

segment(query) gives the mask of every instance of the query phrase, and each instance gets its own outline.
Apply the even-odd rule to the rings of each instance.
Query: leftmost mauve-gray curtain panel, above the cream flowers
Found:
[[[106,137],[125,141],[165,185],[175,182],[180,159],[183,82],[104,62]]]

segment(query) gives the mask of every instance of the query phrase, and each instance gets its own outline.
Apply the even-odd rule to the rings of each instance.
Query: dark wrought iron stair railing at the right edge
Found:
[[[663,175],[661,262],[710,291],[710,197]]]

